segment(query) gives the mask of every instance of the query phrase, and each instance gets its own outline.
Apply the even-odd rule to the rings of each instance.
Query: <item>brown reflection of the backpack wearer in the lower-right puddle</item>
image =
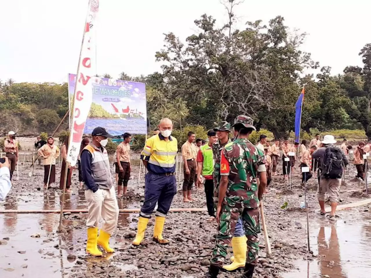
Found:
[[[328,275],[332,278],[347,277],[341,268],[340,246],[335,226],[331,225],[331,236],[328,243],[325,238],[325,227],[319,228],[317,243],[321,275]]]

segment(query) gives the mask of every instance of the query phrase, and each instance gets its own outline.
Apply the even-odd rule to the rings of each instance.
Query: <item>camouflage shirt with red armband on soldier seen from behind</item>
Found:
[[[220,175],[229,176],[225,205],[259,207],[256,177],[261,164],[265,164],[263,152],[246,138],[237,139],[224,147]]]

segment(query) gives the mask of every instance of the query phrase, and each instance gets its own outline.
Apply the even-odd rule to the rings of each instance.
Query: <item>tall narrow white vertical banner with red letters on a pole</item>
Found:
[[[96,17],[99,10],[99,0],[89,0],[84,34],[82,37],[81,52],[76,75],[75,93],[71,111],[72,123],[67,152],[67,162],[75,166],[85,128],[86,118],[92,104],[92,82],[95,64],[95,30]],[[72,104],[71,104],[72,105]]]

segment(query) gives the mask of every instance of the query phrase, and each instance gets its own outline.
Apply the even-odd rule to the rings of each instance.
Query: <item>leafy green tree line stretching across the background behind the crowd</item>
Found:
[[[371,139],[371,43],[359,52],[363,67],[349,65],[333,76],[319,68],[301,46],[307,36],[290,30],[282,16],[263,24],[247,22],[236,28],[236,6],[225,0],[227,24],[218,27],[213,16],[203,14],[182,41],[164,34],[164,46],[155,53],[161,72],[116,77],[146,83],[148,122],[152,129],[169,117],[183,131],[186,125],[215,126],[233,122],[239,114],[252,117],[258,128],[287,137],[294,129],[295,102],[305,86],[302,129],[319,131],[362,128]],[[108,73],[102,75],[112,78]],[[68,110],[67,84],[0,81],[1,133],[50,132]],[[99,110],[98,108],[96,109]],[[65,123],[65,126],[67,123]]]

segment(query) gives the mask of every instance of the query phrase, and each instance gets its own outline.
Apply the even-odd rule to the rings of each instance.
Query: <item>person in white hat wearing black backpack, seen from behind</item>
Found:
[[[343,167],[349,164],[344,152],[334,144],[336,140],[332,135],[325,135],[322,141],[323,147],[312,154],[312,158],[320,160],[320,179],[318,185],[318,202],[321,207],[321,215],[325,215],[325,193],[328,193],[331,202],[329,220],[335,222],[335,211],[338,206],[341,177]]]

